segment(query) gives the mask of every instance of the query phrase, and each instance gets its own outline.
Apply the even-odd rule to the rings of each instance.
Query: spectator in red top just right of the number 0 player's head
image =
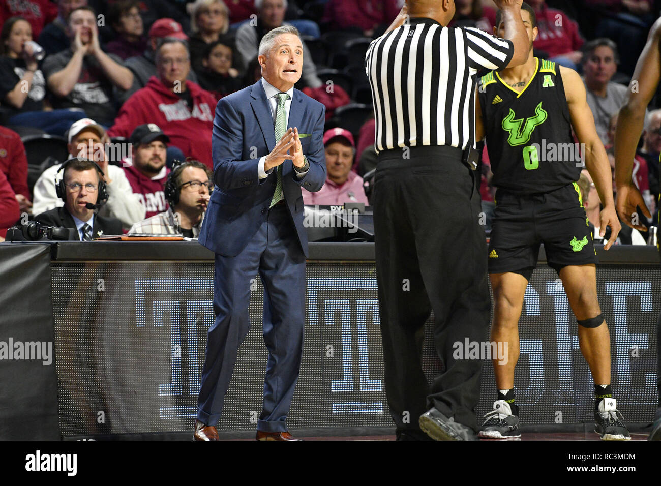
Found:
[[[583,45],[578,24],[563,11],[549,9],[545,0],[528,0],[527,3],[537,15],[539,34],[533,42],[535,51],[543,51],[551,61],[578,71]]]

